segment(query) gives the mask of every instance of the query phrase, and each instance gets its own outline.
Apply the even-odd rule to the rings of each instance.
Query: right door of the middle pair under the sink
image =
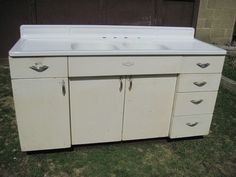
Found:
[[[176,77],[126,81],[123,140],[168,136]]]

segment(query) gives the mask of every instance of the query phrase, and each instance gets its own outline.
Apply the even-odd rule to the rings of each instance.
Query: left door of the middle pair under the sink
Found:
[[[121,140],[123,84],[119,77],[70,81],[72,144]]]

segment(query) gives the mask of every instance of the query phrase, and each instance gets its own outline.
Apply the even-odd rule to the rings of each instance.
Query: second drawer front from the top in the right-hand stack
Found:
[[[180,74],[177,92],[217,91],[221,74]]]

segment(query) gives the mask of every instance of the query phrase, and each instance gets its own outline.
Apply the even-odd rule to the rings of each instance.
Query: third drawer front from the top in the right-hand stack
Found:
[[[217,92],[177,93],[174,115],[212,114]]]

